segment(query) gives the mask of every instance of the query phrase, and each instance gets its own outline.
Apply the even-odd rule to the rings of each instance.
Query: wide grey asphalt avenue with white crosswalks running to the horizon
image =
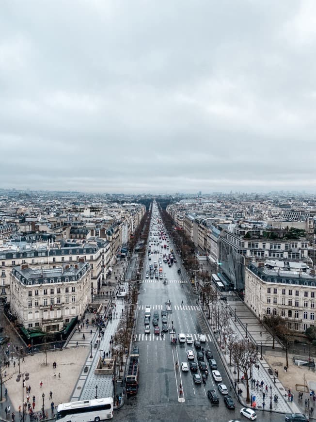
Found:
[[[152,213],[152,225],[155,229],[154,220],[158,217],[158,209],[154,206]],[[158,236],[158,235],[157,235]],[[155,235],[153,236],[155,237]],[[168,239],[168,236],[167,236]],[[151,240],[150,240],[151,242]],[[159,240],[158,240],[159,242]],[[152,243],[152,242],[151,242]],[[156,243],[156,242],[155,242]],[[167,243],[162,241],[162,244]],[[171,242],[170,249],[173,248]],[[157,249],[161,251],[161,244],[152,246],[152,251]],[[169,250],[163,249],[163,253],[169,253]],[[204,318],[197,307],[197,296],[192,292],[189,280],[184,273],[184,269],[179,261],[171,267],[162,262],[163,273],[166,275],[168,284],[162,280],[145,278],[146,269],[149,264],[158,262],[162,254],[152,253],[152,259],[146,259],[144,265],[144,274],[139,294],[139,313],[136,323],[136,341],[140,350],[140,380],[139,390],[136,396],[127,398],[125,406],[116,415],[117,418],[125,421],[208,421],[221,422],[238,419],[247,421],[240,415],[240,406],[234,391],[230,395],[234,398],[236,409],[229,410],[224,405],[223,396],[217,390],[217,383],[213,380],[209,371],[206,385],[195,385],[192,373],[181,371],[180,363],[188,362],[187,351],[193,350],[194,361],[196,359],[196,350],[194,345],[186,343],[177,345],[171,344],[170,333],[165,333],[164,339],[160,335],[154,335],[154,326],[152,325],[153,311],[159,313],[159,328],[161,330],[161,309],[166,308],[166,302],[171,301],[172,312],[167,313],[169,328],[174,325],[175,333],[186,335],[190,334],[197,339],[199,334],[206,334],[207,341],[202,344],[205,350],[210,349],[218,364],[218,370],[222,376],[222,382],[230,387],[230,380],[224,370],[221,358],[218,356],[216,348],[212,342],[211,333],[208,332]],[[176,259],[178,257],[176,256]],[[181,274],[178,275],[177,269],[181,268]],[[183,304],[182,304],[183,301]],[[144,308],[151,307],[150,335],[144,334]],[[175,367],[175,362],[179,362],[179,368]],[[209,369],[209,368],[208,368]],[[201,374],[200,370],[198,373]],[[182,385],[183,395],[180,397],[180,384]],[[211,406],[207,398],[207,390],[215,388],[220,397],[220,406]],[[257,420],[260,421],[284,421],[284,415],[270,414],[266,412],[257,412]]]

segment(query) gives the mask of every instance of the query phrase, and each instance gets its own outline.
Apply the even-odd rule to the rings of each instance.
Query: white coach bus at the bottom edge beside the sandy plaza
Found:
[[[57,406],[56,420],[63,422],[98,422],[113,418],[113,398],[61,403]]]

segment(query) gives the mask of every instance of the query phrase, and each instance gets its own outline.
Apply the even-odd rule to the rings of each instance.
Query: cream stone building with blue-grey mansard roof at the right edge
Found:
[[[245,303],[260,320],[280,315],[302,333],[315,325],[315,294],[315,271],[304,262],[266,260],[245,269]]]

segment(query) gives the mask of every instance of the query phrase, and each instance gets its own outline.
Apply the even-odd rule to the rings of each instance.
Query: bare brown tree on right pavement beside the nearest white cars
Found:
[[[256,362],[257,350],[256,346],[246,339],[237,341],[235,343],[236,358],[238,362],[238,368],[244,374],[247,388],[246,401],[250,402],[250,391],[249,391],[249,379],[252,365]]]

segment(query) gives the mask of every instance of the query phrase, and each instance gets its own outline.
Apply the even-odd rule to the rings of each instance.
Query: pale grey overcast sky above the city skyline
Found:
[[[0,187],[315,192],[316,1],[0,3]]]

